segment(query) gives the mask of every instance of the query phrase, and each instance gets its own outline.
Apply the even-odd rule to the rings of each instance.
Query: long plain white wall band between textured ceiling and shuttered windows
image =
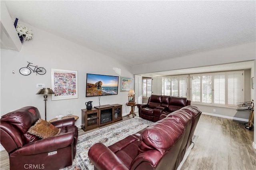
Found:
[[[194,53],[154,63],[145,63],[144,65],[133,67],[132,73],[152,73],[254,60],[256,55],[255,46],[256,43],[251,42],[201,53]]]

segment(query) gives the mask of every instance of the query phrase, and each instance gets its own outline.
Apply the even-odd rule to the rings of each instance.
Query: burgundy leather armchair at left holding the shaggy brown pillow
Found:
[[[0,141],[10,158],[10,170],[29,167],[58,170],[72,165],[76,155],[78,130],[74,118],[52,122],[60,133],[45,139],[29,134],[28,129],[40,118],[36,107],[23,107],[1,117]]]

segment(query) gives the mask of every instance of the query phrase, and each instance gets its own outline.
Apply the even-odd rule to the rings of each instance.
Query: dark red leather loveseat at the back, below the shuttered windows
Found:
[[[139,104],[139,117],[148,121],[159,121],[160,115],[172,113],[182,107],[190,105],[186,97],[173,97],[165,95],[151,95],[147,104]]]

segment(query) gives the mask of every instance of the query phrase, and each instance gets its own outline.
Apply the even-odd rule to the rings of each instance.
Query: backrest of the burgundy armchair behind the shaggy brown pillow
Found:
[[[27,131],[40,117],[38,109],[32,106],[23,107],[1,117],[0,140],[7,152],[39,139]]]

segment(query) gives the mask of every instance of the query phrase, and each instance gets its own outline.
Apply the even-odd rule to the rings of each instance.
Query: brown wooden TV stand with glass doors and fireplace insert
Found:
[[[82,109],[82,129],[84,131],[122,121],[122,105],[94,106],[92,109]]]

